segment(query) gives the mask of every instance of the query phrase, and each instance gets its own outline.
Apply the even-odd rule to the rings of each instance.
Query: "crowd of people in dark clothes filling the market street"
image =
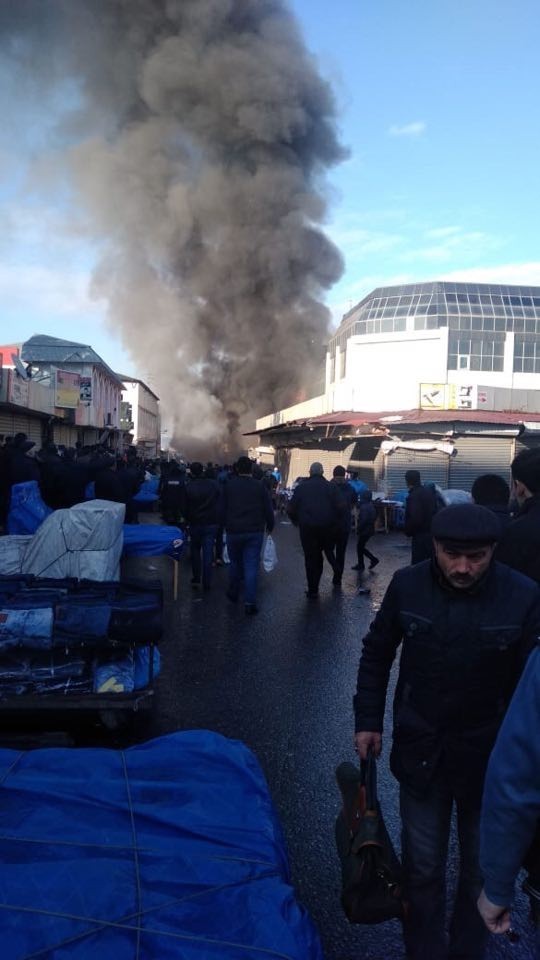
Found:
[[[3,516],[12,484],[37,480],[53,509],[95,496],[123,502],[133,518],[145,476],[135,453],[103,450],[39,455],[24,434],[0,446]],[[274,527],[278,471],[242,456],[232,466],[159,465],[165,522],[189,533],[191,586],[207,592],[227,550],[226,596],[257,613],[264,535]],[[404,531],[410,564],[392,577],[364,637],[354,698],[355,748],[381,754],[390,672],[401,649],[393,702],[390,767],[400,785],[409,960],[480,960],[488,931],[508,933],[517,874],[526,889],[540,958],[540,450],[511,467],[512,486],[478,477],[472,502],[446,506],[418,471],[405,476]],[[316,600],[325,561],[339,589],[353,529],[362,575],[379,563],[370,491],[358,493],[343,467],[321,463],[287,500],[304,554],[306,594]],[[131,513],[130,513],[131,510]],[[136,517],[136,511],[135,511]],[[359,592],[367,592],[365,586]],[[446,931],[446,866],[455,812],[460,865]]]

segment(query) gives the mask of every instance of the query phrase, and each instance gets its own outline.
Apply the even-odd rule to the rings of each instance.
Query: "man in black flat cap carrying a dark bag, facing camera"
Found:
[[[540,632],[540,591],[493,560],[499,521],[486,507],[445,507],[433,559],[394,575],[364,639],[355,745],[381,752],[386,690],[402,644],[390,768],[400,783],[410,960],[480,960],[487,933],[476,899],[482,786],[525,659]],[[445,873],[453,808],[460,844],[450,937]]]

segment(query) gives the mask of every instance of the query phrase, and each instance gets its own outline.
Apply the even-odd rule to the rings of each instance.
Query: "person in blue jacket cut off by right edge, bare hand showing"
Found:
[[[514,884],[526,855],[525,889],[540,960],[540,647],[529,658],[500,729],[484,786],[478,909],[491,933],[510,928]],[[536,839],[535,839],[536,838]]]

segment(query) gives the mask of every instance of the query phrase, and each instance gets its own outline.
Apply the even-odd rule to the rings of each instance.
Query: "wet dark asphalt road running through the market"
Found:
[[[339,809],[334,770],[341,760],[356,759],[352,695],[361,638],[392,573],[408,562],[408,543],[398,533],[375,536],[370,547],[381,563],[364,576],[369,596],[357,596],[351,541],[343,589],[333,589],[325,566],[320,598],[308,601],[297,531],[278,518],[275,540],[279,564],[271,574],[261,572],[260,612],[255,617],[247,617],[241,603],[226,599],[226,568],[216,569],[212,591],[203,596],[190,586],[184,558],[178,600],[173,604],[169,599],[166,605],[162,674],[146,735],[207,728],[243,740],[266,774],[284,827],[297,896],[320,932],[326,960],[403,960],[397,922],[353,927],[345,920],[333,831]],[[134,563],[139,574],[161,571],[164,582],[170,580],[165,560]],[[395,669],[392,689],[394,682]],[[390,703],[391,697],[379,793],[399,849],[397,785],[388,771]],[[456,859],[454,839],[450,895]],[[522,932],[520,943],[494,940],[490,960],[532,958],[523,898],[515,927]]]

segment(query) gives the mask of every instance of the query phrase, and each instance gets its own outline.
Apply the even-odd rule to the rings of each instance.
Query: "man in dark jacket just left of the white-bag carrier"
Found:
[[[203,476],[202,463],[194,461],[189,472],[191,480],[185,487],[185,516],[189,523],[191,584],[200,586],[202,554],[202,586],[203,590],[210,590],[218,528],[219,484],[217,480]]]

